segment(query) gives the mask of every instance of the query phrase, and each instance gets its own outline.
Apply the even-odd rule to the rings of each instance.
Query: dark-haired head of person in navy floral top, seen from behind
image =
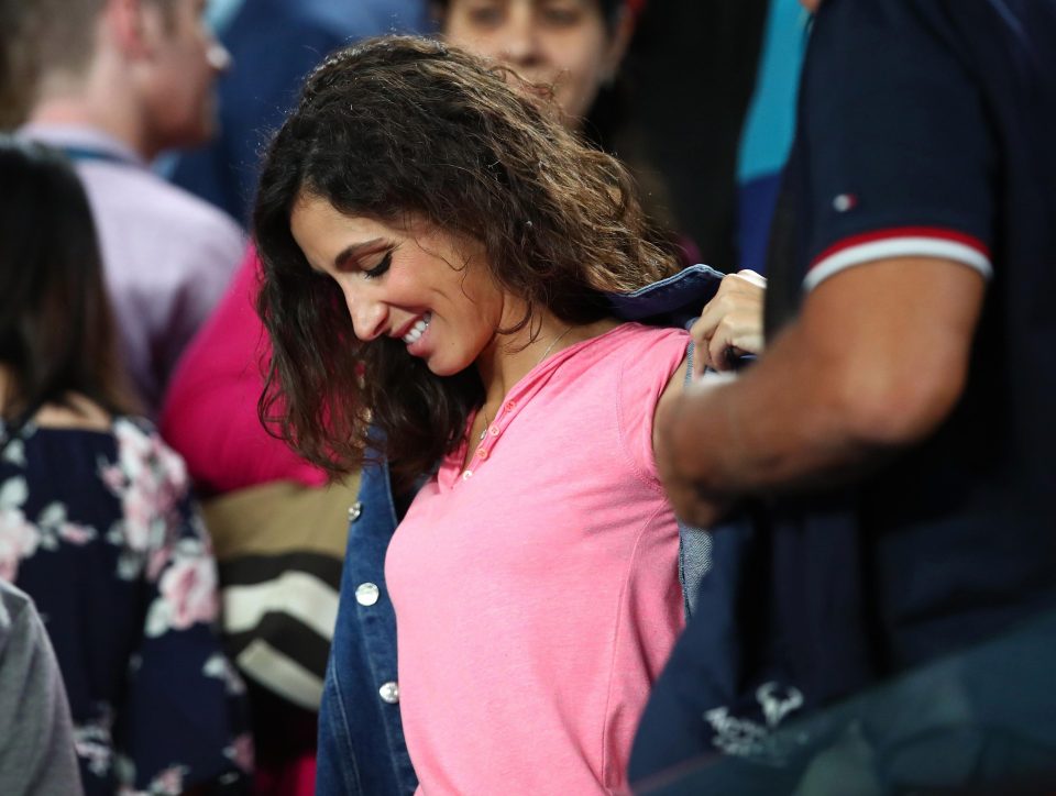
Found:
[[[130,400],[88,199],[61,154],[0,135],[0,416]]]

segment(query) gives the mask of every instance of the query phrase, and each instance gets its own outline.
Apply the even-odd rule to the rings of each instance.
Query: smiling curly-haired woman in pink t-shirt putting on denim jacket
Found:
[[[262,418],[334,475],[387,463],[397,491],[420,486],[385,581],[345,573],[323,793],[361,777],[328,760],[366,676],[342,631],[386,596],[399,681],[377,693],[429,793],[625,789],[683,623],[652,419],[689,335],[613,300],[675,265],[624,168],[516,80],[433,41],[367,42],[310,76],[265,157]],[[395,518],[370,499],[353,520]]]

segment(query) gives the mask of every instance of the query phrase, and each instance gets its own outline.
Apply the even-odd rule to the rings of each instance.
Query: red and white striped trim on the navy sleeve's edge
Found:
[[[895,226],[845,237],[811,263],[803,287],[811,290],[833,274],[862,263],[891,257],[941,257],[993,275],[990,250],[978,237],[941,226]]]

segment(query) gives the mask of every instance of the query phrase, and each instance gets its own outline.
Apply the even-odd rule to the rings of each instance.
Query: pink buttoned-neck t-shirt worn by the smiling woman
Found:
[[[625,323],[536,366],[396,530],[400,711],[429,796],[626,791],[683,626],[652,417],[688,340]]]

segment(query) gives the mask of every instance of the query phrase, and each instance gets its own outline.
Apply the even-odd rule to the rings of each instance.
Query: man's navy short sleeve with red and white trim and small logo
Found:
[[[935,8],[827,0],[801,91],[807,289],[844,268],[904,256],[990,276],[992,128]]]

